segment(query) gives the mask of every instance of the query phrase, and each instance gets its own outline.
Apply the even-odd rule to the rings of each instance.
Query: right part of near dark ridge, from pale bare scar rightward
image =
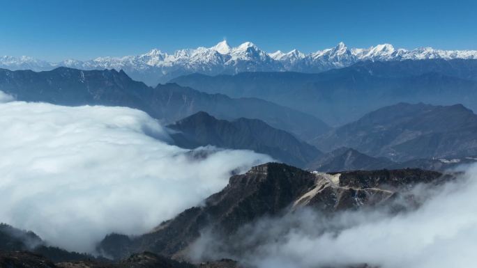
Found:
[[[295,205],[310,205],[323,212],[390,205],[388,201],[407,194],[416,184],[439,184],[453,178],[452,175],[420,169],[315,174],[315,187],[299,198]]]

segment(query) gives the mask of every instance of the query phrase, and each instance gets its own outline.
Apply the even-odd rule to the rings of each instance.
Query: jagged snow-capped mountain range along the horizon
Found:
[[[133,79],[155,86],[184,74],[235,74],[238,72],[295,71],[322,72],[342,68],[359,61],[402,61],[427,58],[477,59],[477,50],[440,50],[424,47],[419,49],[395,49],[384,44],[368,49],[349,49],[343,42],[330,49],[303,54],[294,49],[291,52],[267,53],[252,42],[244,42],[238,47],[230,47],[227,41],[213,47],[180,49],[174,54],[152,49],[146,54],[123,57],[99,57],[90,61],[69,59],[59,63],[40,61],[28,56],[15,58],[0,56],[0,68],[9,70],[52,70],[59,66],[82,70],[116,69],[124,70]]]

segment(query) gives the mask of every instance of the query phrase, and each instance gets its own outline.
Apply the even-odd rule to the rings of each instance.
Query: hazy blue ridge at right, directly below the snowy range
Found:
[[[172,79],[207,93],[259,97],[342,125],[398,102],[477,109],[477,60],[364,61],[318,74],[243,72]]]

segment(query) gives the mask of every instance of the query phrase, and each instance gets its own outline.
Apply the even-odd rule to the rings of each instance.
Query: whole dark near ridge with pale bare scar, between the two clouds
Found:
[[[414,184],[437,183],[451,176],[421,170],[310,173],[286,164],[268,163],[230,178],[225,189],[201,207],[185,210],[139,237],[109,235],[98,249],[114,258],[152,251],[181,258],[201,232],[233,235],[262,216],[279,216],[300,207],[322,212],[384,205]]]

